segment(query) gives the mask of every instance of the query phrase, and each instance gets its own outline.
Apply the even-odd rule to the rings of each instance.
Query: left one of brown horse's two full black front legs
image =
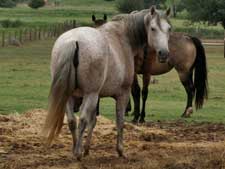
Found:
[[[138,84],[137,74],[134,75],[134,82],[132,84],[132,96],[134,99],[134,119],[133,123],[137,123],[140,116],[140,87]]]

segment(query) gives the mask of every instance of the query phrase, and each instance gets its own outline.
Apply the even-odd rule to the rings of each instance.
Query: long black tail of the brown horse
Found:
[[[191,37],[196,48],[195,67],[195,106],[200,109],[203,106],[204,100],[208,98],[208,77],[207,77],[207,62],[205,49],[201,41],[196,37]]]

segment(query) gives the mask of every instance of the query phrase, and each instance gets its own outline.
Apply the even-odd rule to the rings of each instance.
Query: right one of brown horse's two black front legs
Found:
[[[143,74],[143,89],[142,89],[142,111],[141,111],[141,117],[139,122],[144,123],[145,122],[145,104],[148,97],[148,85],[150,82],[150,75]]]

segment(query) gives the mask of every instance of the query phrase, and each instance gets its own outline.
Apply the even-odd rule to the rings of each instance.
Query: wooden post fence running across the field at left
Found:
[[[14,31],[3,30],[0,32],[0,47],[9,45],[21,46],[25,42],[58,37],[63,32],[76,27],[76,21],[53,24],[48,27],[24,28]]]

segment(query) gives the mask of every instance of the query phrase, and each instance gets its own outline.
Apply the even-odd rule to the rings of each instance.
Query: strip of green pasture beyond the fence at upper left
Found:
[[[24,22],[24,27],[48,26],[73,19],[76,19],[79,24],[90,25],[92,14],[103,17],[106,13],[110,17],[116,13],[114,1],[67,0],[62,2],[59,7],[48,5],[38,10],[31,9],[24,4],[12,9],[0,8],[0,20],[19,19]]]

